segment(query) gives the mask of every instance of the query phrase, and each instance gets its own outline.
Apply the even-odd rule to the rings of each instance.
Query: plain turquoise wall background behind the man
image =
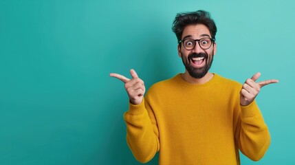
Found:
[[[184,72],[171,25],[208,10],[217,23],[211,72],[263,87],[272,135],[259,162],[295,164],[295,1],[0,1],[0,164],[140,164],[126,142],[128,96],[116,72],[149,88]],[[157,164],[157,157],[148,164]]]

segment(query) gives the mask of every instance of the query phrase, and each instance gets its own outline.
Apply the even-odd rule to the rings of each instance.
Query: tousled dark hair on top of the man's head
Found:
[[[210,31],[212,39],[215,39],[217,27],[213,19],[210,18],[210,13],[204,10],[197,12],[178,13],[173,21],[172,31],[176,34],[177,41],[182,40],[182,32],[187,25],[204,24]]]

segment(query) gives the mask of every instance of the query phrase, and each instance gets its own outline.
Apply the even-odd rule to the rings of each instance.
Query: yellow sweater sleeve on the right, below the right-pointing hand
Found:
[[[243,107],[238,118],[237,140],[240,151],[254,161],[263,157],[270,146],[270,133],[255,100]]]

